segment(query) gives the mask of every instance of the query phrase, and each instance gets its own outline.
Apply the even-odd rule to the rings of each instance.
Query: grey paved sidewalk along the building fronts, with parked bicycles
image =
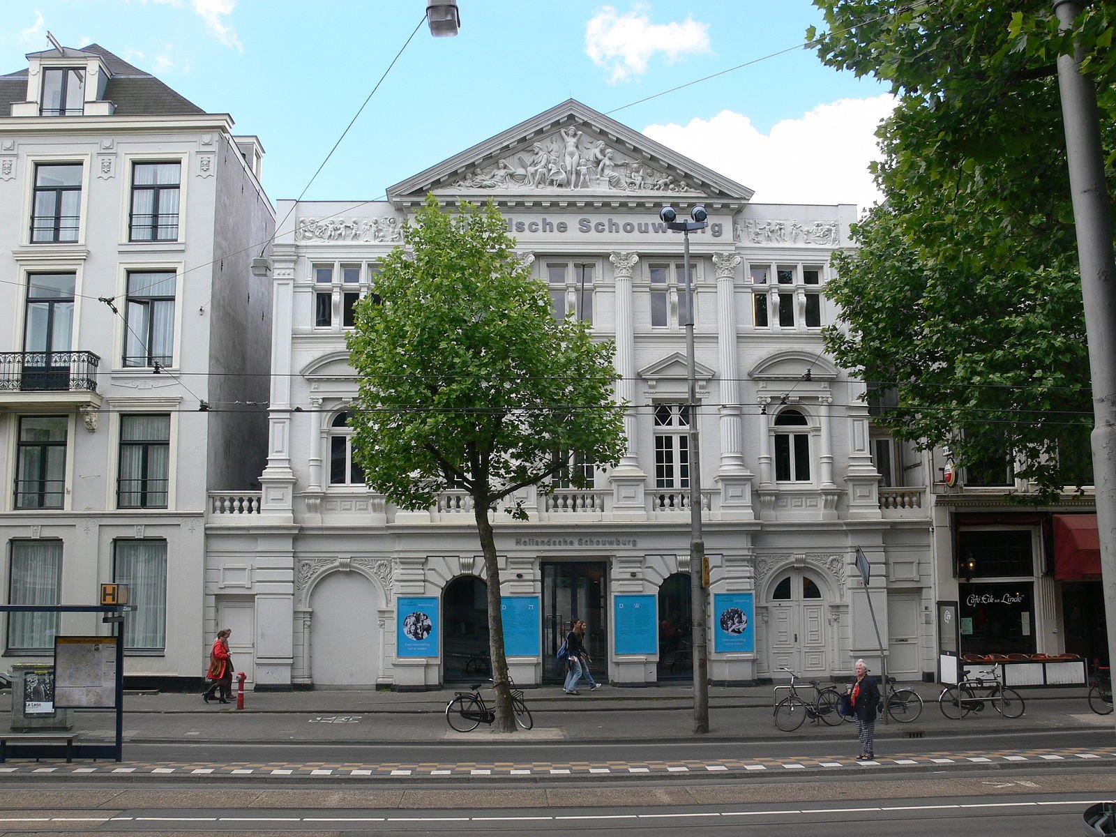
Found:
[[[941,686],[912,685],[924,699],[913,723],[876,724],[877,738],[1023,733],[1095,729],[1112,733],[1116,718],[1089,710],[1085,687],[1023,690],[1027,709],[1019,719],[1001,718],[990,705],[961,720],[946,719],[937,705]],[[128,692],[124,734],[134,742],[379,743],[477,741],[491,734],[483,724],[470,733],[452,731],[445,705],[465,686],[429,692],[373,690],[246,692],[235,702],[206,704],[199,693]],[[808,690],[807,690],[808,691]],[[561,687],[523,690],[535,729],[519,740],[566,742],[670,741],[693,738],[693,692],[686,684],[647,687],[604,685],[580,695]],[[702,740],[762,741],[855,737],[852,724],[828,727],[807,721],[795,732],[775,727],[772,686],[710,686],[710,732]],[[780,693],[780,698],[783,693]],[[487,692],[485,696],[490,696]],[[10,692],[0,693],[0,713],[10,712]],[[112,711],[75,711],[74,729],[84,738],[113,738]],[[0,722],[0,729],[6,727]]]

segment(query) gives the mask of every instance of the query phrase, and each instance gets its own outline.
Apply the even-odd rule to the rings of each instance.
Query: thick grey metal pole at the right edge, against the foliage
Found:
[[[1055,0],[1059,28],[1071,29],[1083,8],[1080,0]],[[1093,482],[1110,664],[1116,660],[1116,259],[1097,94],[1081,75],[1079,54],[1058,56],[1058,88],[1093,377]]]

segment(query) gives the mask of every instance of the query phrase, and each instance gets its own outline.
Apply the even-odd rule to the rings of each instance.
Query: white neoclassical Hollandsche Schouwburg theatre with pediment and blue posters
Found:
[[[852,205],[751,202],[749,189],[569,100],[391,187],[387,200],[280,202],[270,432],[261,491],[212,492],[210,628],[230,625],[256,687],[421,689],[488,671],[483,561],[468,498],[396,509],[364,484],[346,411],[345,334],[408,213],[493,200],[522,258],[613,340],[627,451],[594,487],[527,491],[493,517],[516,681],[555,679],[570,617],[598,679],[690,676],[689,422],[700,430],[715,682],[845,674],[879,656],[899,679],[936,664],[921,462],[873,433],[860,382],[821,328]],[[685,408],[683,242],[658,210],[709,212],[691,235],[696,414]],[[856,569],[870,562],[867,589]],[[416,631],[415,626],[420,628]]]

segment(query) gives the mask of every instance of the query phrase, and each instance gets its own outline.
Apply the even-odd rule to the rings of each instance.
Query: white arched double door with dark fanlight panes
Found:
[[[802,570],[790,570],[776,584],[768,613],[771,676],[787,679],[782,668],[802,677],[828,674],[826,602],[817,583]]]

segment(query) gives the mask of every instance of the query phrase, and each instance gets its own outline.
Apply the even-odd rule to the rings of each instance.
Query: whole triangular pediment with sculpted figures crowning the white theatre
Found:
[[[550,205],[648,203],[737,210],[752,190],[637,131],[568,102],[387,190],[403,208],[429,192],[446,202],[489,199]]]

